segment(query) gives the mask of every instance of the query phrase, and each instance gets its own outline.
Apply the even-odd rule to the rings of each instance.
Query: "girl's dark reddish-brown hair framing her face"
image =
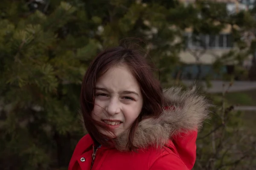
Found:
[[[105,140],[108,136],[99,133],[96,126],[102,127],[108,131],[110,131],[110,129],[102,122],[93,120],[91,113],[94,108],[96,80],[107,72],[109,68],[118,64],[125,64],[130,68],[143,94],[143,108],[128,132],[127,147],[129,150],[133,150],[135,149],[133,145],[134,132],[139,122],[148,117],[158,117],[163,111],[163,92],[160,82],[153,76],[153,67],[148,64],[143,54],[138,50],[122,46],[109,48],[101,52],[93,62],[90,63],[84,75],[81,87],[81,113],[83,115],[84,125],[92,139],[102,145],[109,146],[111,144],[110,141],[113,142],[113,140]]]

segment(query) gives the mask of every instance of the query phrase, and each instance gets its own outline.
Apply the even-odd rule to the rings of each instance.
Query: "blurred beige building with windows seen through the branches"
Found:
[[[194,3],[195,0],[180,0],[183,3]],[[252,8],[255,0],[214,0],[227,4],[227,10],[232,14],[240,10]],[[254,38],[254,35],[244,35],[245,38]],[[186,49],[180,53],[180,60],[185,64],[181,70],[181,79],[205,79],[211,75],[211,79],[222,79],[223,74],[232,74],[235,61],[227,61],[219,72],[213,71],[212,64],[222,55],[227,54],[231,49],[235,49],[231,26],[227,25],[218,35],[198,35],[192,36],[192,28],[185,32]],[[249,38],[248,38],[249,37]],[[248,42],[250,43],[250,42]],[[250,68],[252,56],[244,61],[244,67]],[[201,66],[198,66],[201,65]]]

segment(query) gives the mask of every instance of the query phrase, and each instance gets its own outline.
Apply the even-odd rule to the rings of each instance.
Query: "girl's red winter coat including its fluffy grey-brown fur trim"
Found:
[[[192,92],[188,92],[190,96],[186,97],[182,96],[186,93],[181,94],[182,100],[175,96],[175,102],[183,102],[183,108],[179,105],[179,109],[164,111],[157,120],[140,122],[135,136],[143,136],[143,139],[148,140],[134,137],[136,147],[140,148],[137,152],[123,151],[124,147],[121,145],[116,148],[98,148],[92,170],[191,170],[196,159],[196,129],[207,116],[209,106],[206,101],[201,100],[203,98],[198,98]],[[173,101],[170,96],[168,99]],[[149,128],[152,129],[148,130]],[[124,136],[126,134],[120,138]],[[149,147],[148,144],[152,142],[162,147]],[[90,170],[92,155],[93,140],[90,135],[85,135],[74,150],[68,170]]]

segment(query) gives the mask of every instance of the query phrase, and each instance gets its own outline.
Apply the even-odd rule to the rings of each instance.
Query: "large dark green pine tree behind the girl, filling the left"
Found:
[[[91,59],[124,37],[151,40],[154,27],[155,44],[173,39],[155,3],[4,0],[0,8],[0,169],[66,168],[84,135],[79,92]]]

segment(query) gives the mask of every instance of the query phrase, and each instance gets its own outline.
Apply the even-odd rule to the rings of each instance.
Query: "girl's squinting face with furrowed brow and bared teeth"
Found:
[[[97,79],[92,118],[111,127],[116,136],[131,127],[142,106],[140,86],[127,66],[114,66]],[[98,130],[114,137],[100,127]]]

